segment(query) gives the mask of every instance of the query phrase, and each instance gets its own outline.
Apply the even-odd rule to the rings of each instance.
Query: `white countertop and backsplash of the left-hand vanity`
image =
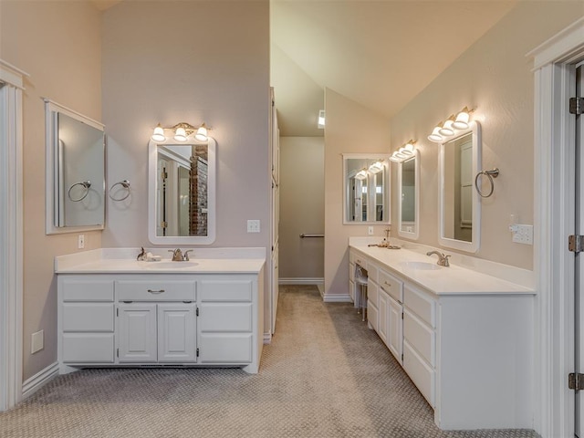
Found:
[[[57,274],[257,274],[266,263],[258,248],[235,248],[201,252],[201,257],[188,262],[172,262],[164,258],[159,262],[136,260],[135,248],[103,248],[99,250],[60,255],[55,259]],[[259,248],[262,250],[263,248]],[[166,251],[166,248],[163,248]],[[263,251],[265,254],[265,250]]]

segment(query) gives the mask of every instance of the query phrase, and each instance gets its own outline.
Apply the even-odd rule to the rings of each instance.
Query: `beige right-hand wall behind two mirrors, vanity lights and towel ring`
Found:
[[[392,118],[391,150],[418,139],[421,152],[420,243],[438,246],[440,146],[426,138],[438,121],[468,105],[482,125],[483,168],[501,171],[495,193],[482,203],[476,256],[533,268],[533,246],[512,243],[508,231],[510,214],[521,224],[534,220],[534,80],[526,54],[582,15],[582,2],[519,2]],[[392,205],[396,222],[395,196]]]

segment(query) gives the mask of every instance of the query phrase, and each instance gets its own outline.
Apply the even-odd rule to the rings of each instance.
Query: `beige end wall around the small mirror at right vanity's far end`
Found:
[[[389,154],[389,120],[331,89],[325,90],[325,108],[325,295],[346,296],[349,294],[349,236],[367,235],[368,225],[343,225],[341,154]],[[381,237],[387,225],[373,226],[375,235]]]

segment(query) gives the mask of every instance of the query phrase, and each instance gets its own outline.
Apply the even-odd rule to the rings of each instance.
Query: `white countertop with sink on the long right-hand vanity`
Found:
[[[436,255],[428,256],[405,248],[387,249],[367,244],[349,244],[349,246],[437,296],[536,294],[533,288],[466,267],[456,266],[453,263],[448,267],[439,266],[439,269],[435,270],[412,269],[404,266],[406,262],[435,264]]]

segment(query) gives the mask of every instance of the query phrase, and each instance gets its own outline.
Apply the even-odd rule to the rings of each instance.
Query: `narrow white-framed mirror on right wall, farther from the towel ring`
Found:
[[[408,239],[418,238],[420,217],[420,152],[399,163],[398,184],[400,193],[398,235]]]

